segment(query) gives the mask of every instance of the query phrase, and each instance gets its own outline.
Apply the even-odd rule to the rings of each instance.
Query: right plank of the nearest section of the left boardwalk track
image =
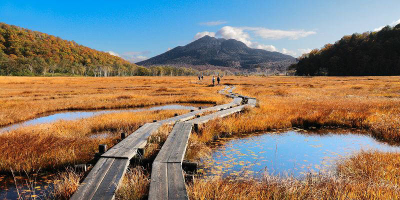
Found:
[[[122,181],[129,159],[115,159],[91,199],[114,199],[115,190]]]

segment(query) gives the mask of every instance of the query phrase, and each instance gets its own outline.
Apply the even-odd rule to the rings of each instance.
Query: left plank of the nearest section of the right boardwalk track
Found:
[[[150,188],[148,191],[148,200],[168,199],[166,163],[153,162],[151,167]]]

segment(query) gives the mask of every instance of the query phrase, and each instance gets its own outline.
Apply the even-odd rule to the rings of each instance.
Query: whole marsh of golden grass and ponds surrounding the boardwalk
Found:
[[[109,148],[145,122],[230,102],[217,93],[222,84],[256,97],[257,105],[191,134],[185,159],[202,167],[186,182],[190,199],[398,198],[398,77],[223,76],[217,86],[209,76],[196,78],[1,77],[3,128],[54,113],[96,112],[4,129],[1,198],[68,199],[86,175],[73,166],[90,163],[98,144]],[[179,106],[151,109],[164,105]],[[146,158],[155,157],[171,128],[148,138]],[[146,199],[150,166],[129,166],[116,198]]]

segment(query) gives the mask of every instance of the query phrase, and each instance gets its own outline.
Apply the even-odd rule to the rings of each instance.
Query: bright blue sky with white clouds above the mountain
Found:
[[[400,23],[400,0],[1,0],[0,21],[139,61],[208,34],[295,57]]]

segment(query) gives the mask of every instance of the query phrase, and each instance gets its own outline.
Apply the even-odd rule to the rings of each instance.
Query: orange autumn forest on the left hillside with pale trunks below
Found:
[[[212,74],[219,71],[203,71]],[[222,72],[221,72],[222,73]],[[178,66],[143,67],[46,33],[0,23],[0,75],[197,75]]]

